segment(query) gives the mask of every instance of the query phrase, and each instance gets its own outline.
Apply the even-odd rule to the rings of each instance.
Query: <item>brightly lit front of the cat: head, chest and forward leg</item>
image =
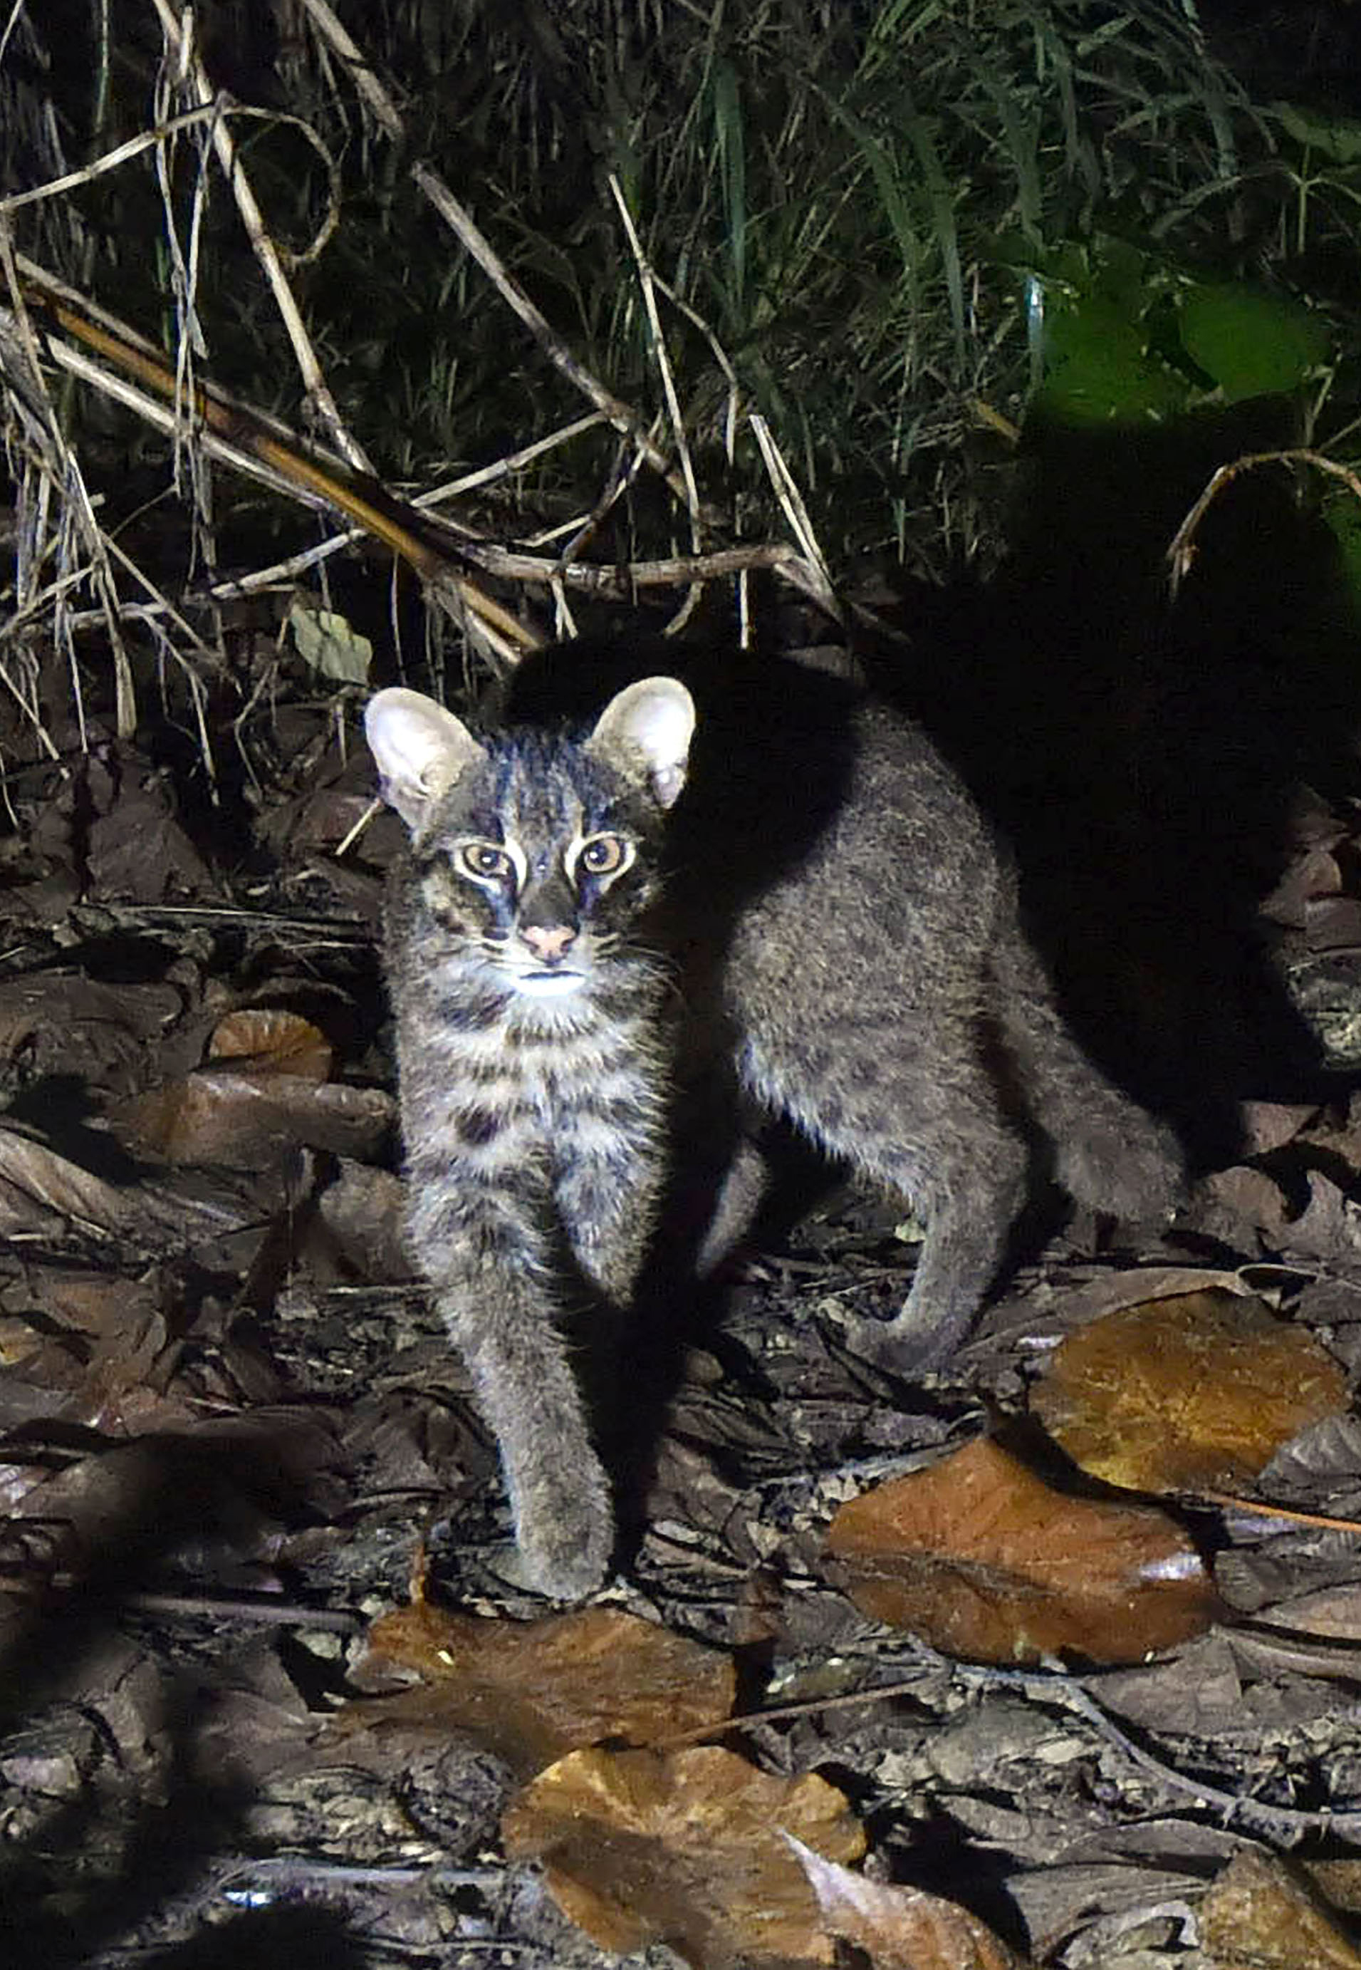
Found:
[[[563,1598],[599,1584],[615,1519],[561,1322],[583,1288],[626,1306],[666,1172],[666,975],[636,932],[693,711],[680,686],[660,707],[660,731],[634,697],[585,745],[483,747],[410,691],[368,715],[412,825],[388,906],[408,1237],[524,1570]]]

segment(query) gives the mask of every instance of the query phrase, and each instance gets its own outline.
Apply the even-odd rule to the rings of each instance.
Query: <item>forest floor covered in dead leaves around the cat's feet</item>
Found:
[[[741,1828],[715,1832],[699,1791],[808,1775],[837,1826],[823,1852],[867,1848],[873,1881],[967,1907],[1003,1938],[989,1954],[973,1929],[932,1956],[890,1938],[902,1909],[880,1911],[876,1964],[1361,1962],[1345,1940],[1361,1935],[1345,1913],[1361,1911],[1361,1541],[1304,1523],[1361,1517],[1345,1399],[1361,1367],[1361,1111],[1345,1093],[1259,1105],[1259,1154],[1201,1184],[1172,1237],[1093,1251],[1093,1227],[1069,1225],[926,1389],[843,1346],[847,1316],[900,1302],[912,1247],[892,1214],[835,1194],[752,1253],[695,1332],[658,1424],[646,1531],[601,1596],[618,1625],[512,1631],[544,1608],[494,1572],[494,1450],[400,1249],[374,942],[396,823],[337,859],[370,774],[323,701],[280,705],[246,778],[248,825],[227,827],[185,814],[162,762],[97,743],[22,790],[2,849],[10,1970],[575,1970],[648,1937],[648,1960],[674,1962],[668,1935],[699,1964],[867,1960],[811,1903],[764,1940],[725,1927],[741,1897],[717,1850],[737,1840],[741,1873],[756,1834],[743,1848]],[[1349,827],[1316,835],[1296,869],[1304,944],[1318,934],[1343,969],[1361,912],[1345,881],[1320,883],[1320,857],[1355,867]],[[1328,1393],[1259,1450],[1201,1460],[1199,1481],[1131,1487],[1172,1527],[1162,1578],[1190,1600],[1158,1629],[1136,1568],[1105,1627],[1083,1627],[1097,1617],[1073,1609],[1089,1582],[1071,1568],[1097,1570],[1097,1535],[1068,1505],[1105,1509],[1119,1479],[1066,1464],[1056,1403],[1034,1391],[1095,1316],[1194,1294],[1211,1338],[1180,1371],[1188,1401],[1190,1383],[1235,1395],[1213,1322],[1239,1302],[1255,1334],[1326,1349],[1322,1369],[1249,1377],[1247,1409],[1292,1377]],[[1166,1403],[1156,1414],[1154,1434],[1182,1428]],[[967,1546],[977,1525],[936,1525],[930,1558],[924,1535],[906,1558],[829,1556],[839,1507],[985,1430],[1052,1485],[1024,1533],[987,1558]],[[1020,1511],[981,1489],[975,1505],[993,1523]],[[1018,1574],[1030,1600],[1006,1627]],[[875,1600],[884,1582],[906,1611]],[[441,1627],[441,1606],[465,1619]],[[573,1657],[595,1649],[626,1682],[644,1629],[695,1653],[652,1690],[662,1726],[632,1741],[703,1738],[709,1763],[668,1767],[646,1826],[662,1767],[646,1785],[626,1767],[615,1834],[573,1848],[536,1773],[571,1743],[628,1740],[616,1692],[599,1728],[563,1724]],[[526,1635],[498,1698],[494,1669]],[[695,1665],[729,1678],[709,1712]],[[741,1724],[723,1726],[729,1710]],[[532,1808],[546,1818],[526,1826]],[[559,1822],[581,1828],[583,1810],[557,1806]],[[766,1830],[786,1818],[750,1810]],[[1276,1954],[1243,1940],[1270,1909]]]

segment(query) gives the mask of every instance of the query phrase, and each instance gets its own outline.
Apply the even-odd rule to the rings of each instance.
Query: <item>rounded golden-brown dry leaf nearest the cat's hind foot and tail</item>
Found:
[[[1229,1489],[1308,1424],[1345,1411],[1347,1377],[1261,1300],[1188,1292],[1069,1334],[1030,1407],[1107,1483]]]

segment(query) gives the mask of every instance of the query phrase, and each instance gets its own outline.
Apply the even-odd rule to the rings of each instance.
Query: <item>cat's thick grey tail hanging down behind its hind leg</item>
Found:
[[[1133,1223],[1166,1219],[1186,1180],[1174,1133],[1087,1058],[1020,928],[995,950],[993,977],[1001,1038],[1054,1143],[1060,1184],[1089,1210]]]

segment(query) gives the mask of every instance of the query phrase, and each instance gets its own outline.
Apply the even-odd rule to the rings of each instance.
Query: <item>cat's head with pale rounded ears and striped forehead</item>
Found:
[[[364,715],[382,798],[412,831],[421,902],[488,983],[526,999],[567,999],[599,979],[646,908],[693,727],[676,678],[630,684],[583,739],[479,739],[404,690],[378,691]]]

